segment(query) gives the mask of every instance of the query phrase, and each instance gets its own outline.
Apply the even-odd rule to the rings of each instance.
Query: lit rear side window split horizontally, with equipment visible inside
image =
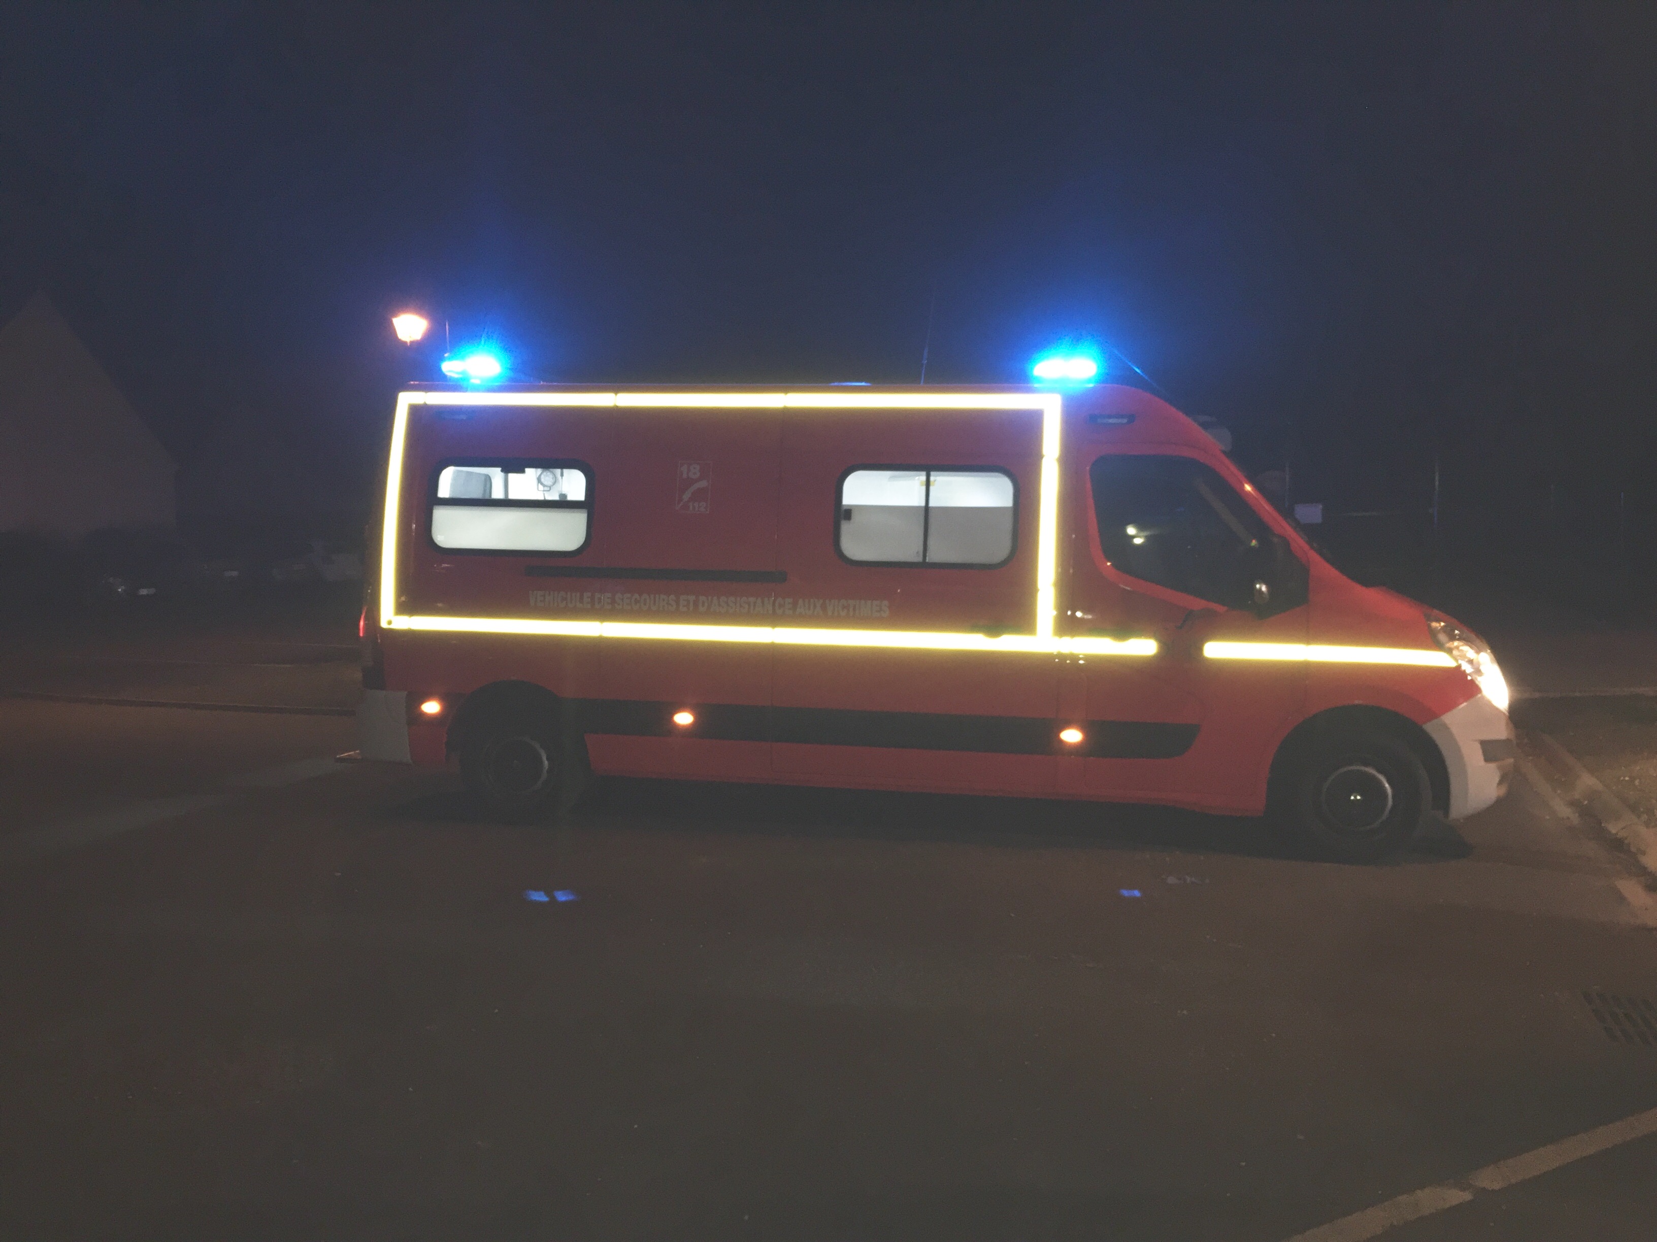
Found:
[[[590,482],[578,462],[444,465],[432,489],[431,542],[452,551],[580,551]]]

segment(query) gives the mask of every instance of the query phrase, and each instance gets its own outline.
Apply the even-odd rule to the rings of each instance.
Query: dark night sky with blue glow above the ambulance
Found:
[[[1352,502],[1652,469],[1640,5],[0,13],[0,311],[51,288],[186,470],[232,429],[356,503],[403,306],[548,381],[1089,336]]]

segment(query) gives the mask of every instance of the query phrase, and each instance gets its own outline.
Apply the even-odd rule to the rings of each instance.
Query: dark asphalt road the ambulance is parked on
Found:
[[[156,700],[156,651],[65,696]],[[186,682],[300,692],[262,676]],[[1642,873],[1528,778],[1470,850],[1341,868],[1185,813],[668,782],[509,828],[350,745],[0,700],[0,1237],[1289,1239],[1657,1108],[1584,1000],[1657,999]],[[1379,1235],[1645,1240],[1654,1158]]]

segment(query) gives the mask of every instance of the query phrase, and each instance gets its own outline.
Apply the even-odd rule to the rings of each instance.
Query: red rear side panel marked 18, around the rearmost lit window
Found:
[[[772,624],[780,578],[775,412],[414,406],[411,419],[403,611],[623,628]],[[592,489],[583,546],[567,555],[436,546],[431,485],[442,464],[504,452],[583,464]],[[467,684],[456,689],[524,679],[580,702],[600,772],[771,773],[767,641],[659,633],[487,641],[434,633],[409,641],[466,661]],[[686,707],[696,722],[676,727],[671,717]]]

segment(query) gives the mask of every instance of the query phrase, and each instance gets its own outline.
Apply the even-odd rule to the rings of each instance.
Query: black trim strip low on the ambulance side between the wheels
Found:
[[[696,722],[673,724],[689,707]],[[1198,725],[1155,720],[1089,720],[1087,740],[1059,740],[1057,720],[1027,715],[951,715],[936,712],[855,712],[833,707],[752,707],[744,704],[669,704],[587,699],[582,730],[623,737],[706,737],[721,742],[958,750],[986,755],[1089,755],[1092,758],[1178,758],[1196,742]]]

